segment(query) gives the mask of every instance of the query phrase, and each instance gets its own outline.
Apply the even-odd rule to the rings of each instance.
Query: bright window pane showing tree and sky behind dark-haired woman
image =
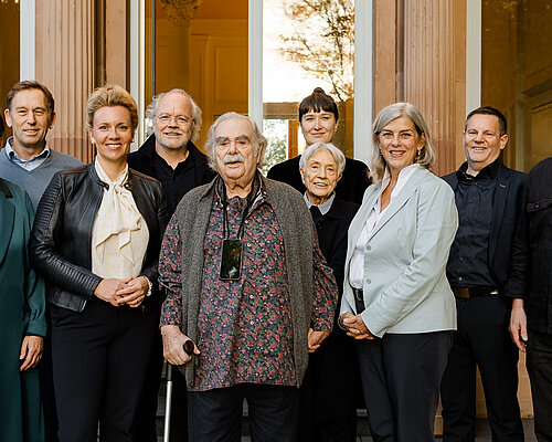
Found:
[[[288,134],[287,146],[280,136],[274,146],[268,139],[270,159],[293,158],[305,149],[297,108],[315,87],[338,103],[340,124],[332,143],[352,157],[354,1],[265,0],[263,8],[264,118],[287,122]]]

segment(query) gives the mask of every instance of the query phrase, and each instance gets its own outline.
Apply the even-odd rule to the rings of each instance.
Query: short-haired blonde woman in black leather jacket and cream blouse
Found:
[[[132,441],[153,333],[168,206],[128,168],[136,103],[116,85],[86,104],[95,160],[57,172],[36,210],[30,251],[47,282],[59,436]]]

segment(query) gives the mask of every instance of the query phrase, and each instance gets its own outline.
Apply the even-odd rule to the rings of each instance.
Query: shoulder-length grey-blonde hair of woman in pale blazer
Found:
[[[422,134],[425,135],[425,145],[422,147],[420,155],[416,155],[414,158],[414,162],[426,169],[429,169],[435,162],[436,155],[432,145],[429,129],[418,108],[411,103],[395,103],[389,105],[380,110],[372,125],[372,146],[369,162],[370,178],[373,183],[378,183],[383,179],[386,167],[385,159],[380,152],[380,133],[388,124],[402,116],[406,116],[412,120],[418,137],[422,136]]]

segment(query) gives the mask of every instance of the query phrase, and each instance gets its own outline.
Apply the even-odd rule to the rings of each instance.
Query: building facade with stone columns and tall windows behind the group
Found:
[[[146,137],[144,110],[151,97],[182,87],[203,109],[199,146],[219,115],[236,110],[265,120],[265,127],[266,120],[279,122],[278,146],[284,157],[295,156],[301,149],[300,95],[320,82],[331,87],[332,80],[305,71],[311,78],[301,83],[289,56],[275,62],[286,52],[287,33],[307,32],[299,18],[294,28],[293,14],[286,15],[294,2],[300,0],[0,0],[0,95],[19,80],[46,84],[57,110],[49,143],[85,162],[94,156],[86,97],[106,82],[126,87],[138,103],[135,148]],[[373,117],[396,101],[412,102],[425,115],[438,152],[437,175],[464,161],[464,119],[479,105],[507,116],[510,140],[503,159],[509,167],[528,171],[552,155],[546,136],[552,126],[551,0],[333,3],[343,3],[352,23],[346,27],[353,44],[346,62],[353,75],[340,99],[336,143],[348,156],[367,159]],[[322,12],[311,13],[315,34]],[[287,22],[278,21],[280,15]],[[339,48],[337,54],[344,54]],[[531,415],[524,359],[520,379],[522,412]],[[478,397],[482,414],[482,391]]]

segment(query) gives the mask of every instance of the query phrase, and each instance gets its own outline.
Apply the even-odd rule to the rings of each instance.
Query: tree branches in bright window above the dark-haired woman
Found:
[[[280,34],[282,54],[332,85],[337,101],[353,95],[353,0],[285,0],[291,33]]]

